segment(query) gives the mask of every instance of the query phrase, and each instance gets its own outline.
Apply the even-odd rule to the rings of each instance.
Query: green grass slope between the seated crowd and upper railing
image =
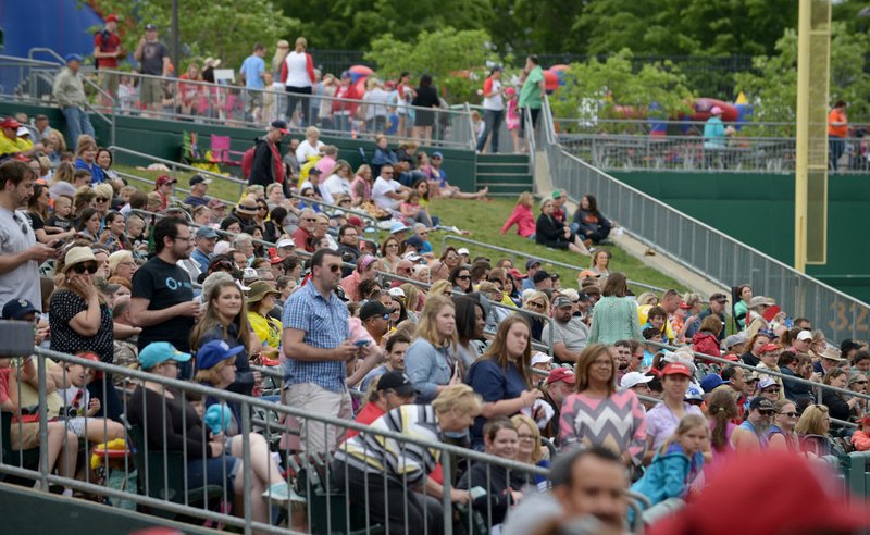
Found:
[[[116,165],[117,171],[128,173],[135,176],[139,176],[142,178],[148,179],[150,183],[145,182],[136,182],[133,185],[138,186],[139,188],[150,191],[153,189],[153,181],[160,176],[161,174],[165,174],[164,172],[159,171],[142,171],[137,170],[130,166],[124,165]],[[187,181],[192,175],[192,173],[177,171],[170,173],[171,176],[175,177],[178,181],[178,185],[183,188],[187,188]],[[217,197],[220,199],[224,199],[235,203],[238,200],[238,192],[239,186],[237,184],[231,182],[224,182],[220,179],[214,179],[212,184],[209,186],[209,195]],[[184,197],[184,195],[179,194],[179,197]],[[576,265],[574,271],[568,270],[566,268],[555,266],[548,264],[546,261],[543,262],[543,268],[550,272],[550,273],[558,273],[563,281],[564,287],[575,287],[576,274],[577,271],[588,268],[589,260],[585,257],[580,257],[575,253],[570,251],[559,251],[554,249],[547,249],[546,247],[542,247],[536,245],[534,241],[524,239],[515,234],[515,227],[509,234],[500,234],[499,229],[505,221],[510,215],[511,211],[513,210],[513,206],[515,200],[513,199],[499,199],[496,198],[492,202],[478,202],[478,201],[471,201],[471,200],[449,200],[449,199],[437,199],[432,202],[430,211],[433,215],[437,215],[442,220],[442,224],[447,226],[457,226],[462,229],[471,231],[470,236],[465,236],[469,239],[473,239],[475,241],[483,241],[488,245],[504,247],[507,249],[513,249],[520,251],[524,254],[533,254],[535,258],[539,258],[542,260],[555,260],[557,262],[564,262],[568,264]],[[447,233],[451,236],[456,236],[453,233]],[[442,237],[445,236],[445,233],[436,232],[430,236],[430,239],[435,247],[436,251],[440,251],[442,249]],[[386,237],[386,233],[380,233],[380,239],[384,239]],[[461,241],[455,240],[447,240],[446,244],[452,245],[456,248],[460,247],[468,247],[471,251],[471,256],[485,256],[492,259],[493,263],[501,258],[510,258],[507,253],[501,253],[499,251],[487,249],[485,247],[473,246],[470,244],[463,244]],[[673,278],[663,275],[662,273],[645,265],[639,260],[635,259],[634,257],[629,256],[625,251],[620,249],[617,246],[605,246],[611,253],[610,259],[610,269],[611,271],[621,271],[629,276],[630,281],[636,281],[638,283],[645,283],[652,286],[658,286],[660,288],[675,288],[680,291],[686,291],[687,288],[682,284],[678,283]],[[513,264],[524,271],[524,264],[526,257],[518,257],[513,258]],[[632,288],[635,294],[645,291],[642,287],[633,287]]]

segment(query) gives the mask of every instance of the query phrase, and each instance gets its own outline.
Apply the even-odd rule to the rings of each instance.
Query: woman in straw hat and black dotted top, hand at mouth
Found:
[[[69,354],[90,351],[102,362],[112,363],[112,314],[105,299],[94,285],[97,258],[88,247],[73,247],[66,251],[63,265],[58,268],[60,274],[54,278],[58,289],[52,294],[49,307],[51,350]],[[105,415],[119,420],[121,400],[109,374],[100,381],[90,382],[87,389],[90,397],[99,399],[101,405],[100,411],[94,416]]]

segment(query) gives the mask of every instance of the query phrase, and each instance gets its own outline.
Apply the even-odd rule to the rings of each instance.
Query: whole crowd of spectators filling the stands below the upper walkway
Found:
[[[260,366],[272,368],[283,375],[277,402],[311,416],[356,419],[529,465],[548,466],[549,445],[571,459],[568,466],[599,463],[618,474],[607,482],[612,508],[586,510],[606,523],[626,518],[632,483],[655,506],[703,492],[697,476],[712,477],[742,452],[818,457],[868,446],[865,343],[834,347],[809,319],[790,318],[748,285],[706,300],[674,289],[634,295],[626,275],[610,265],[604,247],[612,225],[592,195],[573,223],[561,191],[543,199],[545,222],[531,223],[530,195],[508,222],[524,237],[534,228],[535,239],[554,247],[588,254],[597,245],[574,286],[535,259],[514,266],[468,249],[436,250],[430,240],[436,216],[421,200],[486,192],[453,189],[439,172],[442,155],[424,158],[412,142],[391,151],[378,139],[371,164],[353,175],[309,127],[277,162],[283,184],[275,175],[257,178],[257,170],[274,173],[275,165],[270,147],[263,157],[254,150],[250,186],[227,202],[208,196],[211,181],[201,175],[188,178],[184,199],[170,176],[157,178],[150,192],[127,185],[113,172],[111,153],[87,134],[77,139],[74,161],[62,157],[51,165],[27,144],[53,129],[42,124],[22,136],[20,128],[29,132],[23,123],[0,124],[15,148],[0,164],[0,306],[4,319],[35,322],[44,347],[243,396],[258,396]],[[286,134],[286,123],[276,121],[264,145]],[[319,204],[327,198],[339,208]],[[380,215],[383,225],[371,226],[355,209]],[[730,300],[738,300],[732,328]],[[34,387],[33,363],[3,360],[0,371],[0,402],[25,422],[21,408],[29,403],[11,393]],[[235,475],[250,470],[258,494],[289,499],[269,455],[274,445],[252,439],[253,465],[241,465],[237,403],[226,403],[233,423],[210,435],[196,403],[159,382],[130,394],[115,388],[120,377],[83,366],[49,371],[49,390],[62,400],[54,406],[78,411],[52,415],[48,462],[60,474],[75,473],[58,460],[64,447],[85,436],[123,437],[127,407],[126,420],[148,431],[150,446],[191,453],[191,481],[238,495]],[[844,391],[819,397],[799,380]],[[203,405],[209,410],[215,401]],[[437,450],[371,432],[348,438],[314,418],[291,420],[283,423],[282,445],[336,451],[340,485],[353,495],[368,486],[376,496],[368,502],[373,521],[399,531],[440,522]],[[17,444],[34,440],[30,434]],[[206,459],[192,455],[203,450]],[[394,472],[384,478],[384,470]],[[577,483],[570,468],[562,470],[552,480],[561,482],[557,487]],[[508,527],[513,512],[520,522],[523,503],[540,499],[534,495],[546,487],[514,472],[489,473],[485,464],[453,475],[449,500],[492,513],[496,523],[507,519]],[[485,497],[476,487],[487,488]],[[549,506],[576,509],[559,493]],[[408,507],[385,512],[385,502],[400,498]],[[252,514],[270,520],[259,501]]]

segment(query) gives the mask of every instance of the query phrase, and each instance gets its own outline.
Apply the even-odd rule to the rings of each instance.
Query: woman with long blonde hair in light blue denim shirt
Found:
[[[405,371],[420,393],[421,402],[430,402],[464,375],[456,357],[456,309],[447,296],[431,295],[420,313],[417,337],[405,354]]]

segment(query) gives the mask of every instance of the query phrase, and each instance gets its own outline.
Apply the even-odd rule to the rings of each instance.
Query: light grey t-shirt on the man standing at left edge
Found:
[[[21,210],[14,213],[0,208],[0,256],[8,257],[36,245],[27,215]],[[27,299],[42,310],[42,294],[39,287],[39,263],[30,260],[14,270],[0,273],[0,308],[12,299]]]

